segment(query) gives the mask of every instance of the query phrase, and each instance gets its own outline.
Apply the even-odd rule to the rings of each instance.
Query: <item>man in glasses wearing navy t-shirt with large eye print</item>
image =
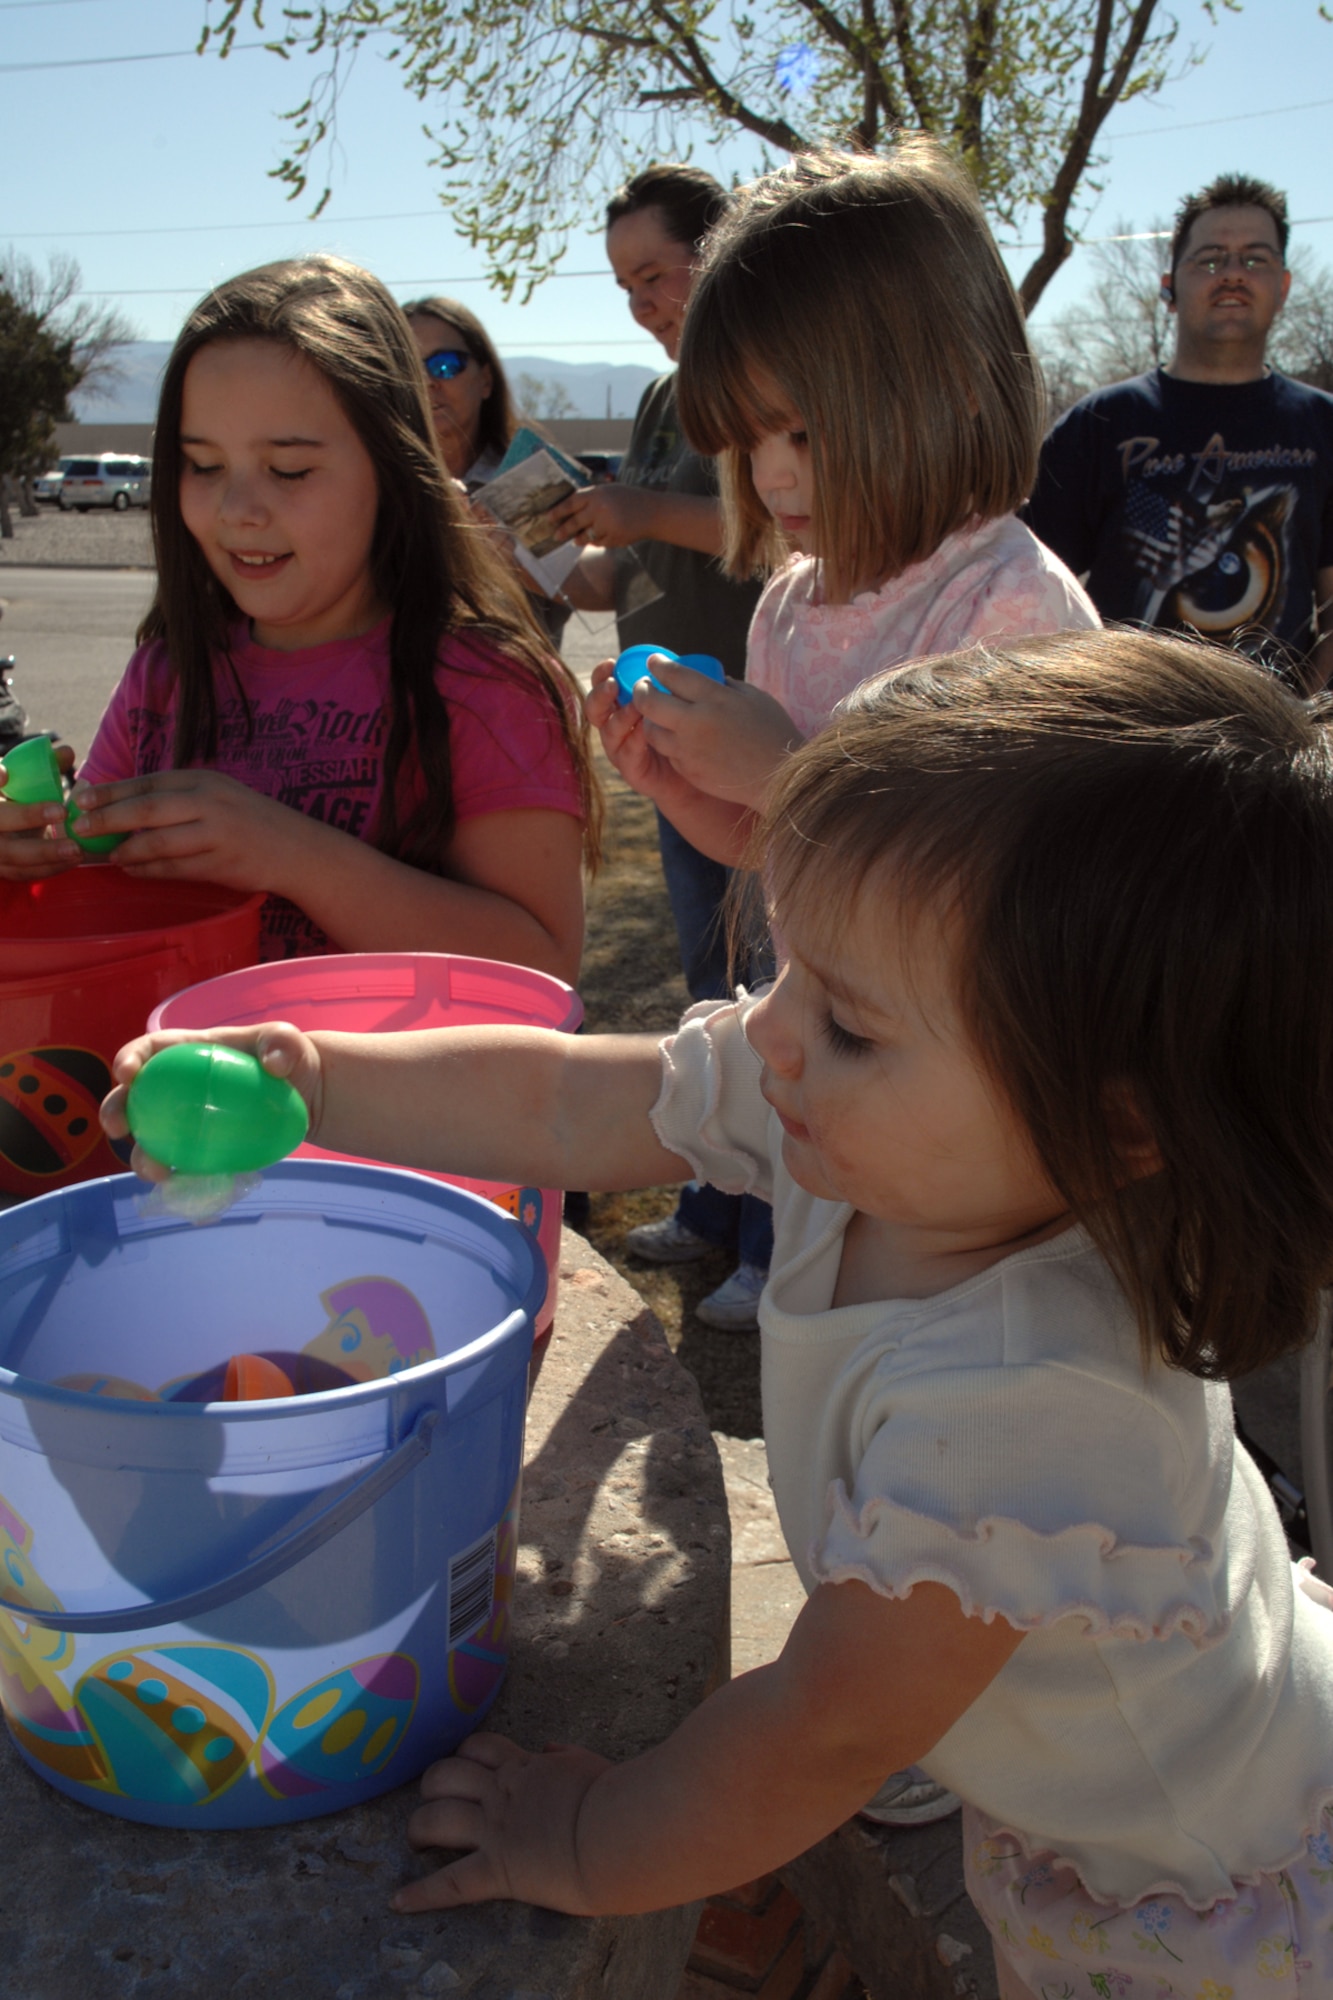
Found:
[[[1333,396],[1265,364],[1285,258],[1267,182],[1223,174],[1183,204],[1175,356],[1059,420],[1027,522],[1103,618],[1241,646],[1315,690],[1333,676]]]

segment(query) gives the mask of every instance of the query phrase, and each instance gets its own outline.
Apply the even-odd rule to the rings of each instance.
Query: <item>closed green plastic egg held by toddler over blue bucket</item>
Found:
[[[306,1136],[306,1106],[256,1056],[176,1042],[144,1064],[126,1102],[130,1132],[176,1174],[252,1174]]]

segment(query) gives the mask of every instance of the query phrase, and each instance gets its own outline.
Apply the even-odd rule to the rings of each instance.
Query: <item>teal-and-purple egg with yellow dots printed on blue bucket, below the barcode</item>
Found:
[[[302,1688],[260,1744],[264,1790],[300,1798],[372,1778],[406,1736],[418,1690],[416,1660],[404,1652],[356,1660]]]

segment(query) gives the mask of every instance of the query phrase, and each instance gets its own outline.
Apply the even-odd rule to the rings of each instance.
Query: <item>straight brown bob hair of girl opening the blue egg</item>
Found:
[[[721,458],[737,576],[787,558],[749,454],[799,410],[827,600],[1019,508],[1045,398],[1023,308],[965,170],[933,140],[805,154],[705,244],[681,418]]]

